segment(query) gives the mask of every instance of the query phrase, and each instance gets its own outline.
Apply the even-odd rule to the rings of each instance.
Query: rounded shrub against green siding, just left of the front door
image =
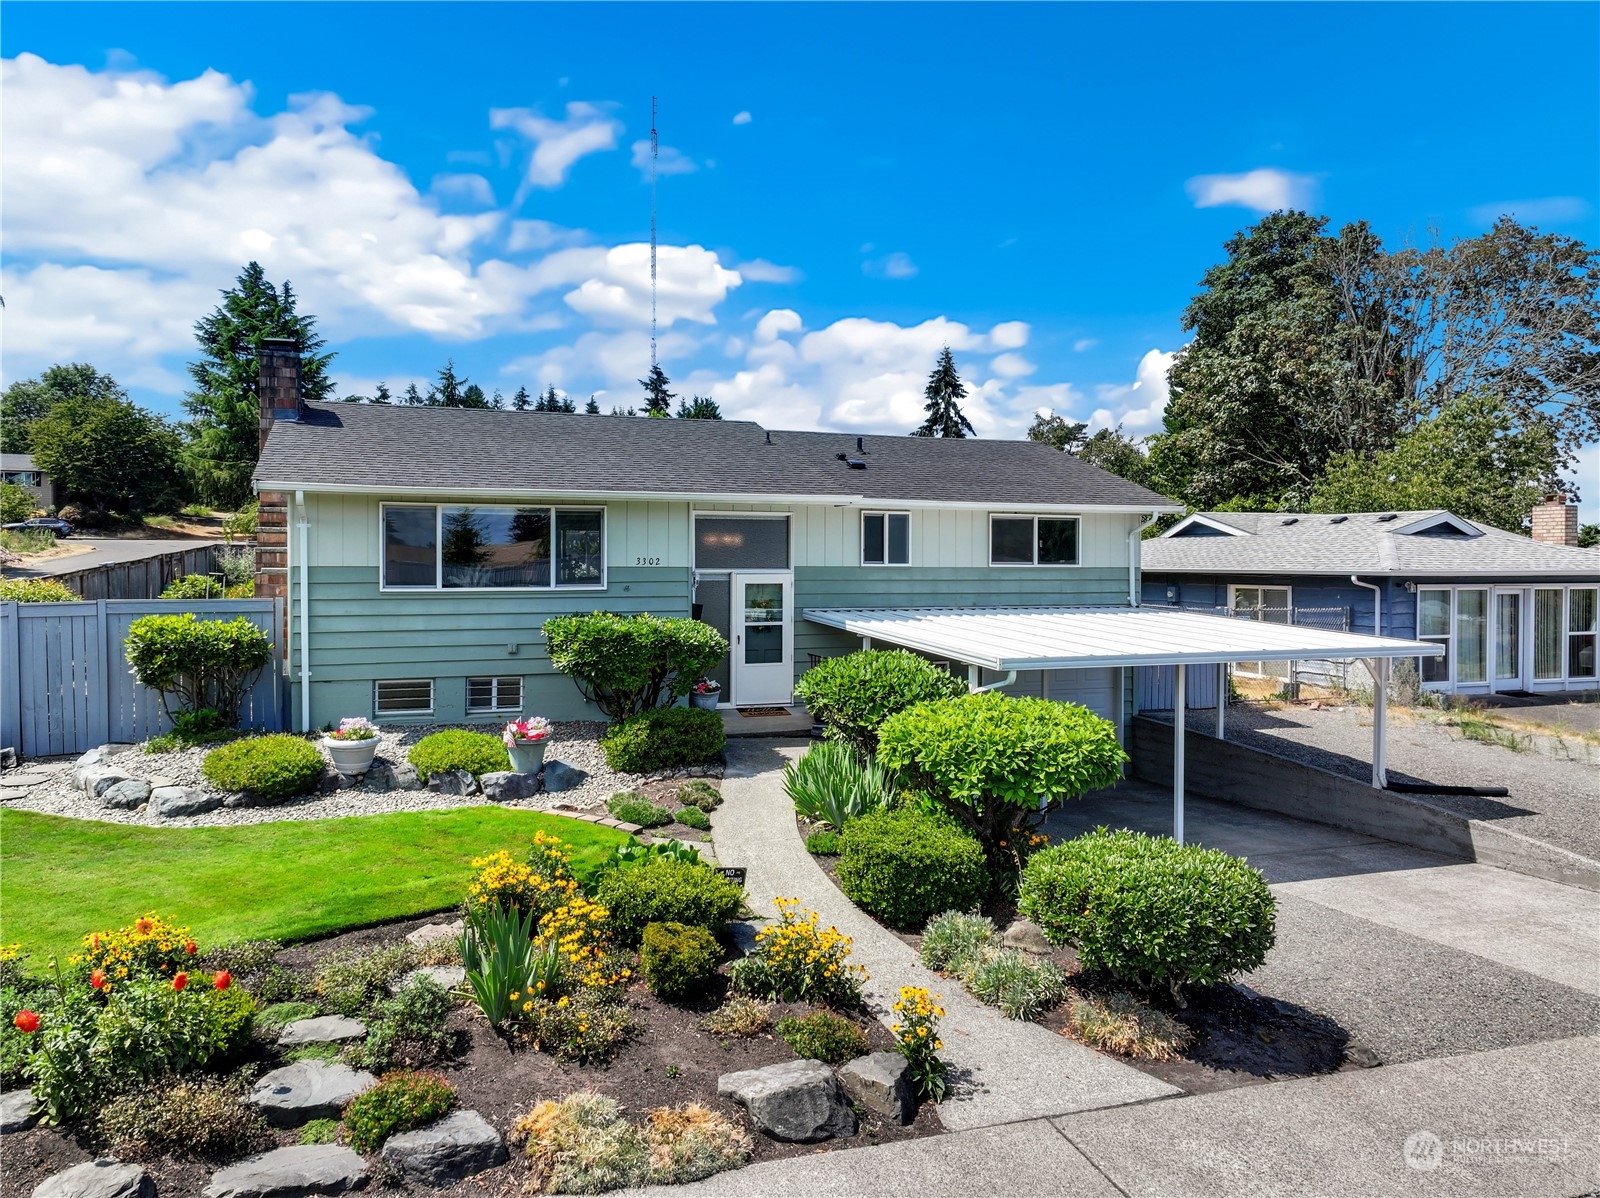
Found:
[[[723,635],[701,621],[610,611],[549,619],[544,638],[550,664],[613,720],[672,707],[728,653]]]

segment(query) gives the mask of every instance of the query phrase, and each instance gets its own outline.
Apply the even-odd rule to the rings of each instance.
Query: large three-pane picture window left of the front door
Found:
[[[605,512],[509,504],[384,504],[386,590],[605,585]]]

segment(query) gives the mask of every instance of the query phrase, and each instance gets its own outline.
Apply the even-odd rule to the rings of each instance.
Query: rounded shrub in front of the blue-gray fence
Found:
[[[162,693],[168,715],[174,701],[189,712],[213,707],[229,728],[238,723],[245,694],[272,661],[267,633],[243,616],[141,616],[128,627],[125,645],[133,677]]]

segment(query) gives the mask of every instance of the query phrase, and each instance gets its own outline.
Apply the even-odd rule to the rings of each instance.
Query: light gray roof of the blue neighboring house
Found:
[[[1533,541],[1443,509],[1200,512],[1142,545],[1146,574],[1600,576],[1600,550]]]

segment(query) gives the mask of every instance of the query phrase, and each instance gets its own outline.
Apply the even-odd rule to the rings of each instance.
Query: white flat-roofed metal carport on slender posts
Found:
[[[883,641],[966,665],[971,691],[1016,681],[1019,670],[1088,670],[1173,665],[1173,838],[1184,838],[1184,718],[1187,670],[1218,672],[1216,736],[1227,713],[1226,670],[1242,661],[1360,661],[1373,677],[1373,787],[1389,782],[1389,664],[1395,657],[1435,657],[1427,641],[1328,632],[1296,624],[1264,624],[1176,608],[806,608],[805,619],[843,629],[870,649]],[[984,683],[982,670],[1002,677]]]

